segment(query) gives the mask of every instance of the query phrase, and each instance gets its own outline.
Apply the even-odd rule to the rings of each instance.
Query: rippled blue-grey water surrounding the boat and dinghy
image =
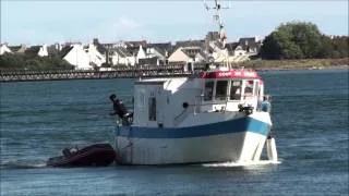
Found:
[[[46,168],[67,146],[112,140],[108,97],[130,98],[133,79],[1,83],[0,193],[348,195],[348,70],[261,74],[279,164]]]

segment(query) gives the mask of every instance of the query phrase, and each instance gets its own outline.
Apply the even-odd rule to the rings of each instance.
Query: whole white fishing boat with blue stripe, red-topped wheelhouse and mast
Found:
[[[221,9],[217,0],[214,9]],[[219,14],[218,21],[224,46]],[[209,68],[185,77],[135,82],[133,117],[117,120],[118,163],[258,161],[266,142],[269,159],[277,160],[270,103],[257,72]]]

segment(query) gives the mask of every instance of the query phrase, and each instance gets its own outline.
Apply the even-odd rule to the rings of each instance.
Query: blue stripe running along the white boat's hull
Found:
[[[270,125],[253,118],[233,119],[230,121],[189,126],[189,127],[144,127],[144,126],[121,126],[117,130],[118,136],[133,138],[188,138],[221,135],[230,133],[252,132],[267,135]],[[130,130],[131,128],[131,130]]]

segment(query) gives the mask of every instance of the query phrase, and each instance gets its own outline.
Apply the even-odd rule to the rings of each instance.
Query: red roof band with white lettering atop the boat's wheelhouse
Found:
[[[202,78],[260,78],[257,72],[253,70],[229,70],[204,72]]]

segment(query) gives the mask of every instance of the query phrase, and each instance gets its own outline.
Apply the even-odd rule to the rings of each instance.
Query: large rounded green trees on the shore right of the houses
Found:
[[[265,37],[262,59],[337,59],[349,57],[348,36],[328,36],[305,22],[281,24]]]

